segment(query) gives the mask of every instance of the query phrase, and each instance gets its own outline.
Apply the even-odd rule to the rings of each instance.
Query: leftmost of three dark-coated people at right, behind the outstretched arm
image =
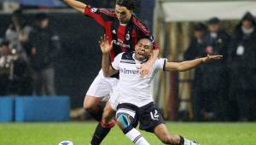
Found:
[[[194,27],[193,38],[190,41],[189,48],[184,54],[185,60],[192,60],[196,57],[202,57],[203,49],[205,49],[205,34],[207,27],[203,23],[198,23]],[[201,67],[195,68],[195,77],[191,85],[192,107],[195,121],[203,120],[203,113],[206,107],[204,98],[199,94],[201,92],[201,73],[203,70]]]

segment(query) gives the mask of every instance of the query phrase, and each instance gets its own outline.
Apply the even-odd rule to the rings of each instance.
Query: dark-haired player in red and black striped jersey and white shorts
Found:
[[[151,32],[148,31],[147,26],[133,14],[133,10],[135,9],[134,0],[116,0],[114,11],[92,8],[77,0],[62,1],[85,16],[96,20],[96,22],[104,28],[109,42],[113,41],[113,49],[109,52],[111,61],[121,52],[133,51],[139,38],[149,38],[154,45],[153,54],[147,63],[141,66],[140,72],[141,77],[147,76],[150,73],[149,71],[159,54],[159,48],[157,44],[154,43],[154,38]],[[115,76],[118,76],[118,74],[113,74],[113,76],[106,78],[103,76],[102,71],[100,71],[84,97],[84,108],[96,120],[101,122],[97,125],[93,139],[90,142],[92,145],[100,144],[103,138],[107,136],[110,128],[114,125],[113,120],[108,123],[102,122],[103,108],[98,104],[102,101],[102,98],[108,97],[116,86],[118,79],[115,78]]]

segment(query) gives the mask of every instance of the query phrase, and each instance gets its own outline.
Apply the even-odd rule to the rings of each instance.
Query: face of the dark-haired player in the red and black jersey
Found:
[[[116,5],[115,14],[117,15],[118,20],[121,24],[127,23],[131,19],[132,11],[126,7]]]

